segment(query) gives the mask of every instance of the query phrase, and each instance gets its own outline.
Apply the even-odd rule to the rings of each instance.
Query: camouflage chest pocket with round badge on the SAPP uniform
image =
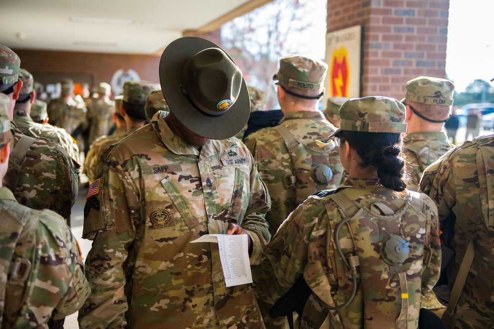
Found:
[[[146,206],[146,231],[160,247],[172,242],[189,227],[172,203]]]

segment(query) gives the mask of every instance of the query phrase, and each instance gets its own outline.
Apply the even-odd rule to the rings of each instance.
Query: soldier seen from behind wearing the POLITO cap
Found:
[[[294,172],[305,170],[310,175],[312,168],[310,164],[308,168],[295,168],[298,164],[292,162],[287,142],[281,132],[276,130],[277,127],[260,129],[248,135],[245,140],[271,196],[271,211],[266,214],[266,221],[272,235],[307,196],[319,189],[336,188],[341,183],[343,167],[339,160],[338,147],[329,140],[336,128],[318,110],[327,70],[328,66],[321,61],[293,55],[280,60],[280,70],[274,77],[279,83],[278,100],[285,114],[280,126],[287,128],[296,142],[305,147],[326,151],[323,156],[329,162],[327,170],[330,173],[324,177],[326,183],[316,183],[313,177],[308,182],[298,181],[298,178],[298,182],[290,182],[289,177],[297,176],[293,175]],[[308,158],[307,161],[312,161],[310,154]],[[278,285],[271,265],[263,262],[252,267],[252,279],[266,327],[286,327],[285,319],[272,320],[268,315],[274,302],[286,291]]]

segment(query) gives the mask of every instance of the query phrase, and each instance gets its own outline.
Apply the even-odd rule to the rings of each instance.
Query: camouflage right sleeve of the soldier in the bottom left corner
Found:
[[[90,288],[83,273],[79,246],[65,221],[52,212],[43,211],[40,223],[38,235],[47,242],[41,245],[36,284],[44,283],[46,286],[40,284],[39,288],[48,289],[51,293],[40,295],[39,301],[47,306],[57,300],[53,316],[58,320],[77,312],[89,295]],[[48,285],[51,287],[48,288]],[[53,298],[54,295],[58,299]]]

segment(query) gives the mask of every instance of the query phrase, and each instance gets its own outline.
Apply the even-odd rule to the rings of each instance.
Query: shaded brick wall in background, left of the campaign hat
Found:
[[[160,82],[158,72],[160,56],[82,53],[67,51],[43,51],[13,49],[21,59],[21,67],[33,74],[50,79],[50,77],[80,77],[80,82],[95,85],[110,82],[117,70],[129,69],[137,72],[142,80]],[[77,82],[77,79],[75,79]],[[89,80],[89,81],[87,81]],[[57,81],[40,81],[54,83]]]

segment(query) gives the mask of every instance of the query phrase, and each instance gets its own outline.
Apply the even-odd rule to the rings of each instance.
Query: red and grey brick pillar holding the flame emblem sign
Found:
[[[364,26],[362,96],[405,96],[417,76],[445,77],[449,0],[328,0],[328,32]]]

